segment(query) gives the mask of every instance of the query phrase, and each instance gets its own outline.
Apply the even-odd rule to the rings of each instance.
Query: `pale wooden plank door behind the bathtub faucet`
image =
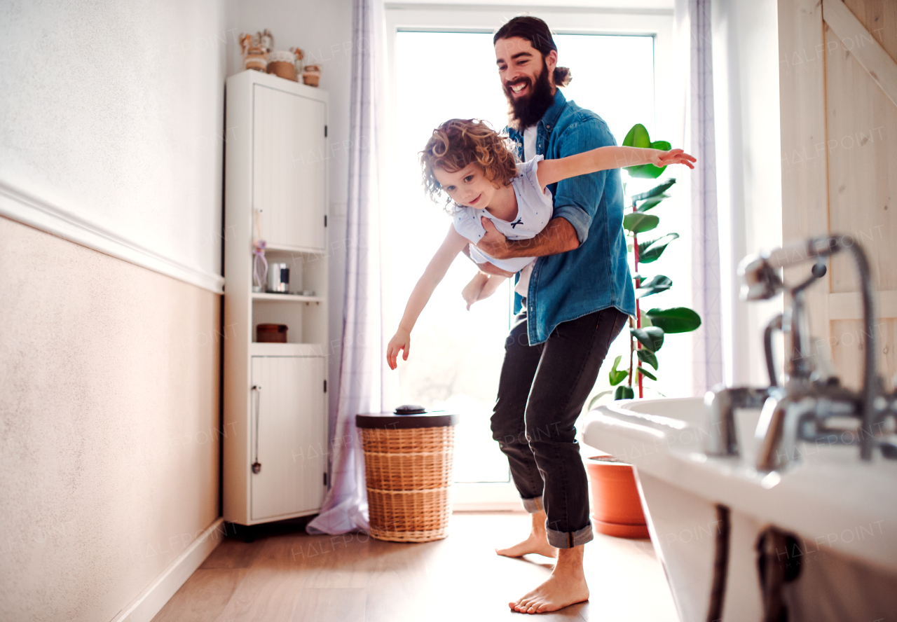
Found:
[[[838,28],[857,36],[842,39]],[[897,372],[897,2],[779,2],[779,55],[783,240],[840,233],[867,249],[878,292],[876,350],[890,386]],[[786,278],[798,273],[806,270]],[[825,281],[808,290],[811,333],[820,337],[814,350],[831,353],[835,372],[858,386],[867,341],[849,256],[833,259]]]

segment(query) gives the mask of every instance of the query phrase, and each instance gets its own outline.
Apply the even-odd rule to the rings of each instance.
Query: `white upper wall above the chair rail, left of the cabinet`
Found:
[[[0,4],[0,188],[220,274],[232,37],[221,0]]]

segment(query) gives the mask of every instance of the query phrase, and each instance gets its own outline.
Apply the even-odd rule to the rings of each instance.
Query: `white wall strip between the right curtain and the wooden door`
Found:
[[[741,301],[736,268],[782,240],[776,0],[714,0],[712,20],[726,383],[762,385],[762,330],[781,301]]]

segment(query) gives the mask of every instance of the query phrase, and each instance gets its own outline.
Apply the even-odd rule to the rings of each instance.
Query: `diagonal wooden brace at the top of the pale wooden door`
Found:
[[[841,0],[823,0],[823,21],[827,23],[875,83],[897,106],[897,63]],[[852,41],[850,48],[845,41]]]

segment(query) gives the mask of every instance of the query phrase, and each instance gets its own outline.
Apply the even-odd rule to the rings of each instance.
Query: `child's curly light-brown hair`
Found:
[[[444,202],[447,209],[451,198],[433,175],[439,167],[454,173],[474,163],[493,183],[509,186],[517,176],[517,160],[513,143],[480,119],[448,119],[433,130],[427,146],[421,151],[423,191],[434,203]]]

